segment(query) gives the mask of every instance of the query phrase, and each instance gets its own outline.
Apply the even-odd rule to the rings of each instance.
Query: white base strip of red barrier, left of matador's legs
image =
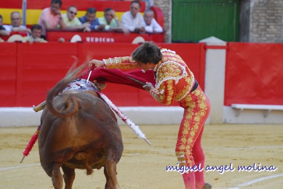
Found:
[[[131,106],[119,109],[135,124],[180,124],[184,109],[179,106]],[[0,108],[0,127],[38,126],[42,111],[34,112],[32,107]],[[119,124],[124,124],[118,118]]]

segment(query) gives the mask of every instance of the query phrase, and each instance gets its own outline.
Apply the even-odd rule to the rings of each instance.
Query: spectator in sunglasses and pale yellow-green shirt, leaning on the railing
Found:
[[[67,13],[62,15],[62,19],[66,25],[66,28],[90,30],[90,29],[86,29],[86,28],[89,28],[90,23],[85,22],[81,24],[81,21],[79,20],[79,18],[76,17],[77,12],[78,12],[77,7],[70,6],[67,9]]]

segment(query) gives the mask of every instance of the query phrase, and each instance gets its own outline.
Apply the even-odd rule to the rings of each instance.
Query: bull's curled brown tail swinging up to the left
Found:
[[[74,65],[76,65],[75,63]],[[75,66],[73,65],[66,76],[59,81],[56,86],[54,86],[51,91],[47,94],[46,98],[46,106],[48,110],[54,114],[55,116],[59,118],[67,118],[70,116],[73,116],[79,109],[80,102],[72,96],[72,94],[69,94],[69,97],[65,101],[65,109],[63,110],[58,110],[56,107],[53,105],[53,99],[67,86],[68,83],[71,81],[77,79],[79,76],[81,76],[81,71],[82,69],[85,68],[87,62],[82,64],[80,67],[77,69],[74,69]]]

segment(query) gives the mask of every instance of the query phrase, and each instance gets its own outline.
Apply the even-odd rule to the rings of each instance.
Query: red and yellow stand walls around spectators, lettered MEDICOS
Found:
[[[96,17],[102,17],[105,8],[111,7],[116,11],[116,16],[121,20],[124,12],[129,10],[131,1],[111,1],[111,0],[62,0],[61,13],[66,13],[66,9],[75,5],[78,8],[77,17],[82,17],[89,7],[95,7],[97,10]],[[145,10],[145,3],[141,1],[141,13]],[[26,26],[31,28],[33,24],[38,23],[41,11],[50,6],[49,0],[28,0],[26,9]],[[164,18],[162,10],[159,7],[153,6],[151,9],[155,13],[155,19],[163,27]],[[22,0],[1,0],[0,13],[3,16],[3,24],[10,24],[10,14],[13,11],[19,11],[22,16]],[[50,31],[47,34],[48,41],[57,41],[58,36],[65,37],[69,41],[75,34],[80,34],[84,42],[132,42],[136,37],[142,36],[145,40],[153,40],[155,42],[164,42],[164,34],[129,34],[124,36],[122,33],[112,32],[90,32],[83,33],[78,31]],[[14,34],[14,33],[13,33]],[[3,38],[3,37],[2,37]],[[6,39],[5,37],[3,38]]]

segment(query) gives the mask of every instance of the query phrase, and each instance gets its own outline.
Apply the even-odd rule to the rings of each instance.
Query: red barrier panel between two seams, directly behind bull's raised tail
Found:
[[[17,104],[39,103],[67,72],[77,56],[76,43],[19,43],[17,61]]]

